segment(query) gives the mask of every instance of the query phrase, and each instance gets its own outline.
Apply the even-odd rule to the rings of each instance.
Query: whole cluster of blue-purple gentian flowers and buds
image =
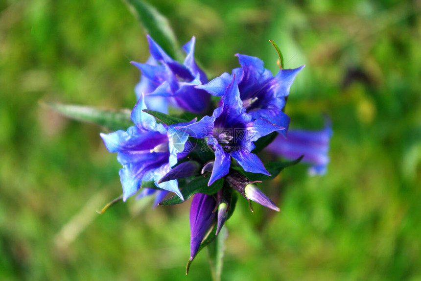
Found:
[[[280,211],[256,183],[275,177],[281,169],[265,166],[257,152],[266,149],[286,159],[302,159],[312,164],[311,173],[322,174],[331,128],[327,124],[320,132],[288,131],[286,97],[304,66],[280,69],[274,76],[260,59],[237,54],[239,68],[208,82],[193,58],[194,37],[183,47],[183,64],[149,36],[147,40],[151,57],[144,64],[132,63],[141,71],[138,102],[131,114],[134,126],[101,138],[123,165],[119,174],[124,201],[139,190],[138,198],[156,196],[154,206],[193,196],[191,261],[231,216],[237,193]],[[220,100],[213,105],[211,100],[217,97]],[[197,118],[169,116],[169,106]],[[171,192],[175,195],[164,200]]]

